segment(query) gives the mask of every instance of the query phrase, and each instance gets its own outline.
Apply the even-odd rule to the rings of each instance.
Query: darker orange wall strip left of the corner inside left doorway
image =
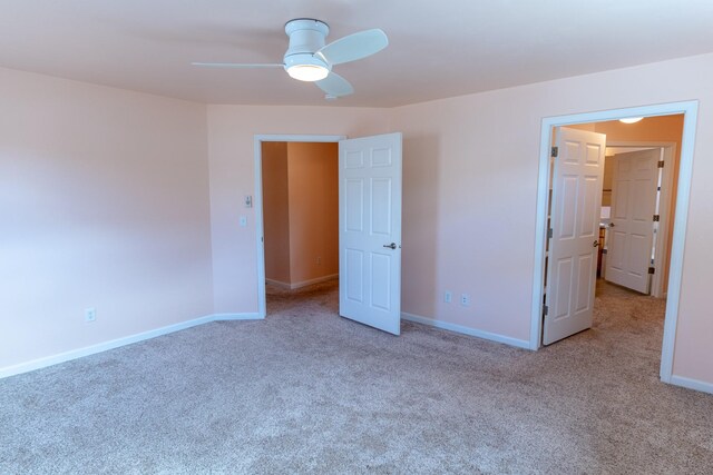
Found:
[[[263,142],[265,277],[290,283],[290,194],[287,144]]]

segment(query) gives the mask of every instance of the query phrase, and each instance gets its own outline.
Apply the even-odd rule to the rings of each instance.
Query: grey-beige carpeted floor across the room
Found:
[[[658,382],[663,301],[600,287],[531,353],[393,337],[334,289],[0,380],[0,473],[713,473],[713,396]]]

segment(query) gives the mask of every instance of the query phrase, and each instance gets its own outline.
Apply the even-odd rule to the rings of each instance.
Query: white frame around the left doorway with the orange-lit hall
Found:
[[[267,315],[267,296],[265,291],[265,240],[263,210],[263,142],[339,142],[346,136],[307,136],[307,135],[255,135],[253,138],[255,166],[255,245],[257,246],[257,316]]]

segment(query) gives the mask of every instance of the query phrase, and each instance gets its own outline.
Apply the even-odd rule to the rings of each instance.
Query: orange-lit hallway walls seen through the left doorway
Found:
[[[263,142],[265,280],[296,290],[339,277],[338,144]]]

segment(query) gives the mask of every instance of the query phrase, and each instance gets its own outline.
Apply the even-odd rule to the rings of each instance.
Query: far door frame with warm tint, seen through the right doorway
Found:
[[[607,147],[622,147],[622,148],[636,148],[636,147],[653,147],[663,149],[664,168],[661,179],[661,197],[658,206],[658,215],[661,220],[658,221],[660,232],[656,232],[656,268],[651,283],[651,295],[656,298],[666,297],[664,291],[663,267],[661,257],[665,258],[668,249],[668,219],[671,218],[671,188],[673,187],[673,170],[678,166],[676,157],[676,142],[672,141],[632,141],[632,140],[613,140],[606,142]],[[665,231],[662,231],[665,230]]]

